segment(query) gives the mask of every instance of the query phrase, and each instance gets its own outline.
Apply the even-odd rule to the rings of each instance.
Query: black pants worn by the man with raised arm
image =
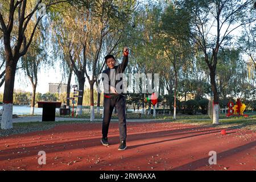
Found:
[[[125,117],[125,97],[116,95],[111,98],[104,97],[104,117],[102,122],[102,138],[108,137],[109,123],[114,107],[117,108],[119,138],[126,140],[126,117]]]

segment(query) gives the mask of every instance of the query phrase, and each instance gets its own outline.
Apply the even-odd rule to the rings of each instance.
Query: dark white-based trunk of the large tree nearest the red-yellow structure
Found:
[[[212,92],[213,92],[213,124],[218,124],[219,118],[219,105],[218,105],[218,91],[217,85],[215,80],[215,70],[210,69],[210,84],[212,85]]]

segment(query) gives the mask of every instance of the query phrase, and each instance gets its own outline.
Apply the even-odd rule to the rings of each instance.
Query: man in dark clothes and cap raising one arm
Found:
[[[104,118],[102,122],[102,139],[101,143],[108,146],[108,130],[109,122],[112,117],[114,107],[117,108],[119,138],[120,145],[118,150],[126,149],[126,117],[125,117],[125,97],[122,95],[123,80],[119,78],[118,74],[122,74],[128,63],[129,50],[125,47],[123,49],[123,60],[119,65],[115,65],[115,57],[107,55],[105,57],[108,69],[102,72],[102,81],[104,83]]]

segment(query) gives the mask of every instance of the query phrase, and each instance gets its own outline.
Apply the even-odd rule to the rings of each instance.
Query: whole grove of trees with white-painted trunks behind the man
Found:
[[[120,61],[125,46],[130,49],[126,76],[159,73],[159,85],[153,85],[159,95],[156,107],[168,108],[174,119],[179,110],[189,114],[200,108],[205,114],[210,96],[215,124],[220,107],[228,101],[240,98],[247,109],[255,109],[254,2],[1,0],[1,128],[13,127],[13,104],[27,103],[25,98],[33,114],[36,101],[43,100],[43,95],[36,93],[39,70],[55,67],[57,61],[68,86],[74,73],[82,90],[76,114],[82,114],[82,105],[90,105],[90,121],[94,121],[94,106],[102,103],[96,90],[101,84],[97,78],[106,68],[104,56],[111,53]],[[24,102],[14,93],[17,69],[23,70],[33,88],[26,90],[32,94],[19,93],[24,94]],[[141,84],[140,88],[148,86]],[[70,104],[69,87],[64,96],[44,95],[44,100],[61,97]],[[143,101],[147,96],[129,94],[127,103],[142,108],[142,114],[148,107],[150,114],[151,103]]]

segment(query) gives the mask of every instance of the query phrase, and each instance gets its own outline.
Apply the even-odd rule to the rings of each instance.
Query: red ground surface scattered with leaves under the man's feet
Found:
[[[101,123],[56,126],[0,138],[0,170],[256,170],[255,131],[174,122],[128,122],[127,149],[118,151],[118,123],[100,143]],[[46,165],[38,152],[46,152]],[[209,165],[209,151],[217,164]]]

